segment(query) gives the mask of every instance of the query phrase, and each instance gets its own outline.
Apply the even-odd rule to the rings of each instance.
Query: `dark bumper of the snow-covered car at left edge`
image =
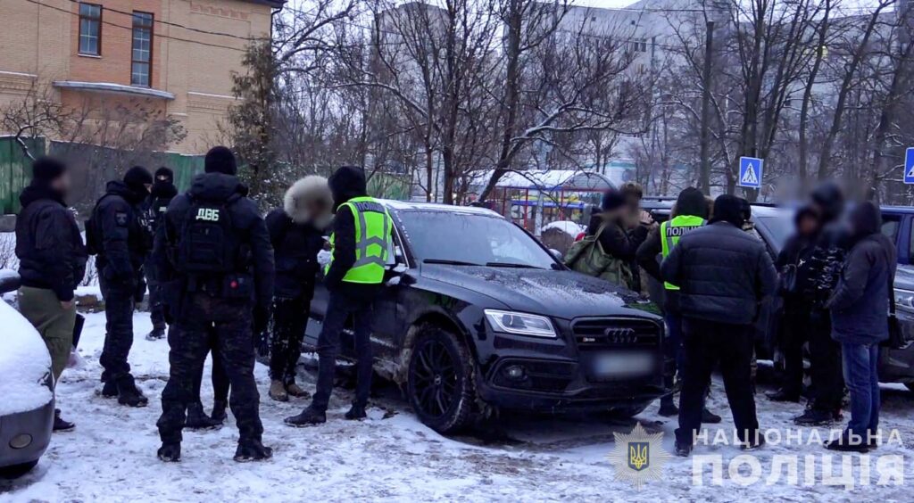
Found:
[[[37,461],[48,448],[54,426],[54,400],[23,413],[0,417],[0,468]],[[16,448],[11,443],[21,442],[21,435],[28,435],[27,445]]]

